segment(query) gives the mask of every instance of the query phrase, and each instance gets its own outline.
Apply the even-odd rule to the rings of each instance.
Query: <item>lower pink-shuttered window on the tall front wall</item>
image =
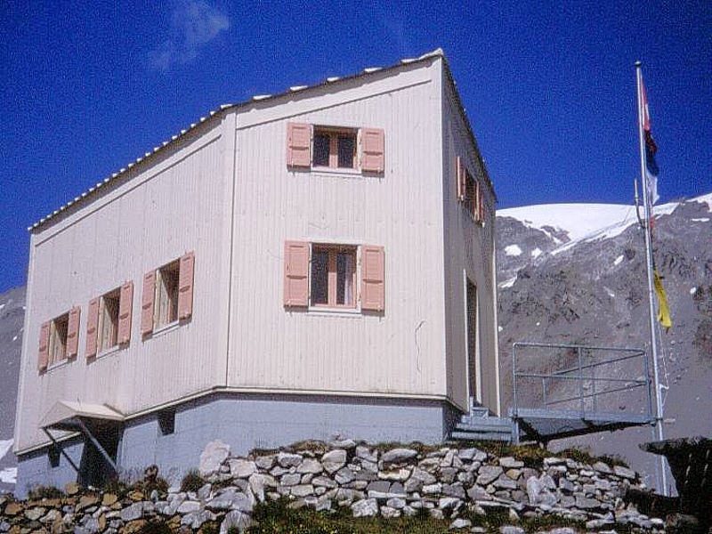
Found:
[[[287,241],[284,305],[383,312],[384,257],[384,247]]]

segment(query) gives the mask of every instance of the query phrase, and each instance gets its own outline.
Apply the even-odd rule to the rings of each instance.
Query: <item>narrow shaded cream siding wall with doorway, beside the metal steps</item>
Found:
[[[494,251],[495,199],[486,185],[485,169],[477,157],[476,146],[460,115],[455,94],[443,80],[443,183],[445,217],[444,263],[446,271],[445,307],[447,313],[447,360],[449,394],[458,406],[467,405],[468,359],[465,276],[477,288],[477,353],[470,354],[479,364],[475,376],[475,398],[499,413],[498,328],[496,324],[497,287]],[[479,182],[484,202],[484,226],[473,221],[457,201],[462,185],[457,163],[467,166]]]

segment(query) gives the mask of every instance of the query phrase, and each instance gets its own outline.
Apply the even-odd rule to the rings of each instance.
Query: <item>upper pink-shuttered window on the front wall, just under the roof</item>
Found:
[[[383,173],[384,131],[379,128],[287,123],[287,166]]]

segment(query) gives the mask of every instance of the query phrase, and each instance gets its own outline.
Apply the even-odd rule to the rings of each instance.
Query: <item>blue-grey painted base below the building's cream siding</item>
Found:
[[[121,438],[116,463],[122,479],[139,479],[148,465],[156,464],[161,476],[180,482],[198,466],[208,441],[222,440],[236,455],[336,438],[439,443],[449,436],[457,417],[457,410],[443,401],[214,393],[127,421],[123,431],[117,430]],[[81,470],[95,469],[81,438],[61,447]],[[38,450],[18,457],[15,495],[24,498],[34,486],[63,488],[69,481],[91,478],[91,473],[77,477],[63,456],[53,467],[48,449]]]

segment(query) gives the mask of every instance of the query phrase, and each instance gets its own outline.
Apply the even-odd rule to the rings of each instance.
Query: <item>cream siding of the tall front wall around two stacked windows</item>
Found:
[[[231,386],[446,394],[440,67],[238,117]],[[290,121],[382,129],[384,173],[290,169]],[[291,240],[384,247],[384,312],[285,307]]]

